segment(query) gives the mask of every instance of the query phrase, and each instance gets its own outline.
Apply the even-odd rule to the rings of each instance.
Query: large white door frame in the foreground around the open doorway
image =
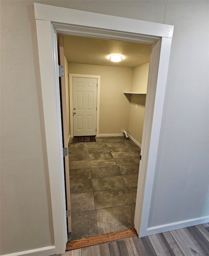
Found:
[[[134,221],[139,237],[146,236],[173,26],[38,3],[34,8],[56,254],[67,242],[56,33],[152,44]]]

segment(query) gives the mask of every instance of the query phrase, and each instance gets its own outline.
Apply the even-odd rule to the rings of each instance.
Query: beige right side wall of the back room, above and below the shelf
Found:
[[[149,62],[133,69],[133,93],[146,93],[149,72]],[[128,134],[140,145],[144,124],[146,94],[132,94],[129,108]],[[136,109],[137,105],[137,109]]]

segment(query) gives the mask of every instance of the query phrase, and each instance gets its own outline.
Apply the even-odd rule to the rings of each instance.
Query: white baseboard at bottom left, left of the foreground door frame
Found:
[[[28,250],[28,251],[19,251],[19,252],[4,254],[2,256],[23,256],[23,255],[50,256],[50,255],[55,255],[55,254],[56,254],[55,246],[47,246],[47,247],[32,249],[32,250]]]

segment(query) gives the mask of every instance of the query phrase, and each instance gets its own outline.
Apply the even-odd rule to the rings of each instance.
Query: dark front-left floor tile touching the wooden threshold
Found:
[[[68,234],[68,240],[77,240],[98,235],[95,210],[72,213],[71,218],[72,232]]]

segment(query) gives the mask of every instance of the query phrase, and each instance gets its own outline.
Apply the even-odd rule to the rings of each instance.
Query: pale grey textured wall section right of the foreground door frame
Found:
[[[209,215],[208,4],[167,2],[174,34],[150,227]]]

